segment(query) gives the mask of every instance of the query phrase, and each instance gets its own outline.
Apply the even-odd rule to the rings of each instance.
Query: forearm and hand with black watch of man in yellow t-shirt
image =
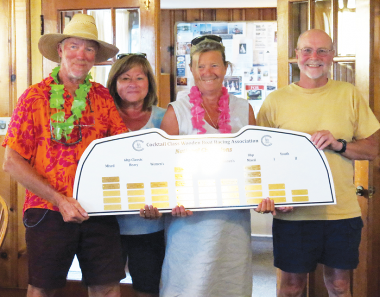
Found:
[[[343,143],[337,141],[330,131],[317,131],[311,136],[311,141],[318,150],[328,149],[340,151]],[[347,142],[346,152],[342,156],[351,160],[373,160],[378,155],[378,136],[377,133],[353,142]]]

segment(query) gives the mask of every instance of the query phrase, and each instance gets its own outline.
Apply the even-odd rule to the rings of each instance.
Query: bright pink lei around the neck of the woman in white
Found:
[[[222,87],[222,96],[219,99],[219,132],[220,133],[231,133],[231,125],[230,125],[230,105],[227,88]],[[198,134],[205,134],[206,129],[203,128],[204,125],[204,109],[201,106],[203,99],[201,92],[199,91],[197,86],[193,86],[190,90],[190,94],[188,95],[190,98],[190,103],[193,104],[191,109],[192,114],[192,124],[195,129],[198,130]]]

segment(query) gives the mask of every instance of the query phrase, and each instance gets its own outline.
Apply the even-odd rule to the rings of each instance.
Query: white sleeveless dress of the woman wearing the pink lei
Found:
[[[170,103],[180,135],[193,129],[188,92]],[[249,102],[230,95],[232,133],[248,125]],[[206,134],[220,133],[207,122]],[[250,210],[197,211],[189,217],[165,216],[166,252],[161,297],[242,297],[252,295]]]

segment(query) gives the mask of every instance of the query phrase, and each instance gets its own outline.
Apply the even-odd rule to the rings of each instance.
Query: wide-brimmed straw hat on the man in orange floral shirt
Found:
[[[60,63],[57,44],[70,37],[93,40],[99,44],[95,63],[107,61],[119,52],[116,46],[98,40],[98,29],[94,18],[91,15],[83,13],[74,14],[70,23],[63,30],[63,34],[48,33],[42,35],[39,41],[39,50],[45,58]]]

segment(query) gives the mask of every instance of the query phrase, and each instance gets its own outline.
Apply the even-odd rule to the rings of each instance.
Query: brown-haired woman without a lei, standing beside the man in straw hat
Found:
[[[159,128],[165,109],[157,107],[157,86],[146,54],[119,54],[109,72],[107,88],[129,131]],[[123,259],[139,297],[158,296],[165,255],[163,218],[117,216]]]

